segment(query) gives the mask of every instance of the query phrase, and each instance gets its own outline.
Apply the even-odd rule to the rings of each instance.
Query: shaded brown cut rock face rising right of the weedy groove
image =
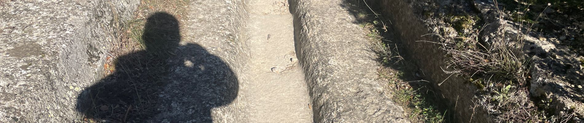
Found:
[[[488,107],[481,104],[479,97],[474,93],[477,87],[471,85],[460,76],[444,73],[447,69],[446,52],[441,50],[442,45],[427,43],[422,41],[440,42],[440,38],[432,34],[440,34],[436,25],[443,25],[439,19],[424,19],[424,15],[419,14],[420,4],[427,2],[408,0],[387,0],[376,1],[381,6],[384,16],[389,17],[394,30],[398,30],[396,36],[404,43],[415,64],[425,73],[425,80],[432,82],[435,93],[443,96],[444,106],[449,107],[449,111],[456,119],[453,122],[493,122],[489,117]],[[431,62],[429,62],[431,61]],[[441,83],[441,84],[440,84]],[[440,85],[439,85],[440,84]]]

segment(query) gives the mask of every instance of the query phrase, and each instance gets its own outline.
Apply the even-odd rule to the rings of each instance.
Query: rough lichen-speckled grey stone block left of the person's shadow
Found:
[[[117,1],[2,1],[0,122],[71,122],[100,78],[109,41],[137,6]]]

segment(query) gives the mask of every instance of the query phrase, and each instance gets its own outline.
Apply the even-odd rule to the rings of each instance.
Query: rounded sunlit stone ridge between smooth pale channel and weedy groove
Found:
[[[342,0],[290,1],[315,122],[409,122],[376,80],[378,64]]]

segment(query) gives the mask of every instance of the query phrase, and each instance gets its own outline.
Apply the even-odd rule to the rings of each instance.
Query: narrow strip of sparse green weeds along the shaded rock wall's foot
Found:
[[[381,68],[378,73],[381,78],[388,82],[392,92],[392,98],[398,100],[397,103],[406,107],[408,118],[412,122],[444,122],[446,112],[440,111],[429,101],[433,99],[431,93],[425,93],[429,84],[416,76],[407,74],[415,69],[413,65],[404,62],[399,54],[398,42],[391,41],[392,34],[387,31],[388,20],[384,20],[374,10],[369,8],[365,2],[351,2],[344,5],[351,8],[351,13],[356,17],[357,22],[363,28],[364,35],[369,38],[371,51],[377,55],[377,61]],[[405,67],[404,67],[405,66]],[[405,80],[414,80],[405,82]],[[431,92],[431,91],[429,91]]]

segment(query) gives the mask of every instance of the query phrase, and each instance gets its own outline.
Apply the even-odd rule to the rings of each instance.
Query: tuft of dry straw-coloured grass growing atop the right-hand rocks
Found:
[[[528,60],[519,55],[522,43],[496,42],[485,47],[475,38],[444,38],[442,48],[447,52],[449,68],[446,73],[479,80],[489,79],[525,83]],[[457,40],[460,39],[460,40]]]

